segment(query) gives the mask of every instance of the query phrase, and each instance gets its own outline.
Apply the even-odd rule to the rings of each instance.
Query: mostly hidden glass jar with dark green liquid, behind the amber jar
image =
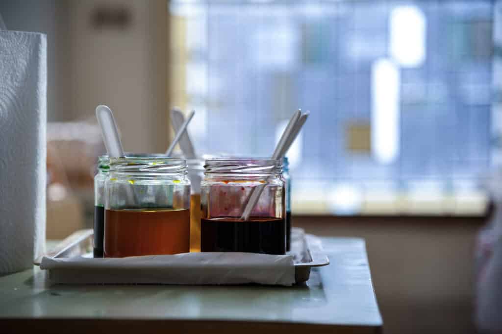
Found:
[[[108,177],[108,155],[97,159],[97,174],[94,176],[94,257],[103,257],[104,237],[104,182]]]

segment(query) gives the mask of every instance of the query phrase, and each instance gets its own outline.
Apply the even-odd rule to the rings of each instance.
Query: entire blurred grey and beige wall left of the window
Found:
[[[48,120],[91,118],[111,107],[128,151],[164,151],[167,123],[165,1],[3,1],[10,30],[48,35]]]

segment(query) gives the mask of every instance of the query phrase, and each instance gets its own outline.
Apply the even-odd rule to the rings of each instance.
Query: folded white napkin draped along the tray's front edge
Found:
[[[49,258],[41,269],[67,284],[245,284],[292,285],[292,255],[183,253],[124,258]]]

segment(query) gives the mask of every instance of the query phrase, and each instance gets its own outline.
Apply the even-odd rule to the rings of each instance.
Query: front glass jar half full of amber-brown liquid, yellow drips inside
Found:
[[[110,158],[105,181],[104,256],[177,254],[189,249],[186,160]]]

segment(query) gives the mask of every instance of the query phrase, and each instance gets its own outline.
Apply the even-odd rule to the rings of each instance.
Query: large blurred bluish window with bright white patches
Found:
[[[298,108],[293,211],[478,214],[490,1],[173,1],[171,97],[199,151],[270,155]]]

